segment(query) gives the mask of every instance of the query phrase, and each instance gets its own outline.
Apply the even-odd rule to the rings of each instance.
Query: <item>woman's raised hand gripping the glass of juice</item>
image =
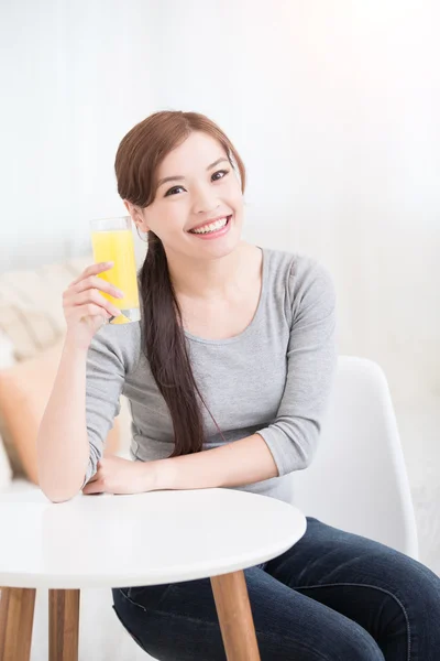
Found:
[[[100,293],[106,292],[116,299],[123,296],[116,286],[98,278],[98,273],[111,269],[112,263],[87,267],[63,292],[63,310],[67,322],[66,339],[75,347],[88,349],[94,335],[107,319],[121,314],[120,310]]]

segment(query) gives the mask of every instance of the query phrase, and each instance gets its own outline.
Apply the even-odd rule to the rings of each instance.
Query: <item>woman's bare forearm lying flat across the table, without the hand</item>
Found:
[[[239,487],[278,475],[272,453],[260,434],[154,464],[156,489]]]

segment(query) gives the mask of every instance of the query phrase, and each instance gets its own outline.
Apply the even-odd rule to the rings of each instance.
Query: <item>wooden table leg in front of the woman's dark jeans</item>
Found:
[[[228,661],[260,661],[244,573],[212,576],[211,585]]]

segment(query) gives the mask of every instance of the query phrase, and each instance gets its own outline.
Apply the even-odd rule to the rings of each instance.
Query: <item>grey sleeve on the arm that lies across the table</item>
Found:
[[[275,421],[257,431],[279,476],[307,468],[318,445],[337,366],[336,292],[324,267],[293,264],[287,377]]]

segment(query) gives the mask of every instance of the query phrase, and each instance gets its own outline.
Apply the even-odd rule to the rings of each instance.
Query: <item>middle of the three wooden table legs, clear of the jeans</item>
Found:
[[[50,661],[78,661],[78,632],[79,589],[50,589]]]

